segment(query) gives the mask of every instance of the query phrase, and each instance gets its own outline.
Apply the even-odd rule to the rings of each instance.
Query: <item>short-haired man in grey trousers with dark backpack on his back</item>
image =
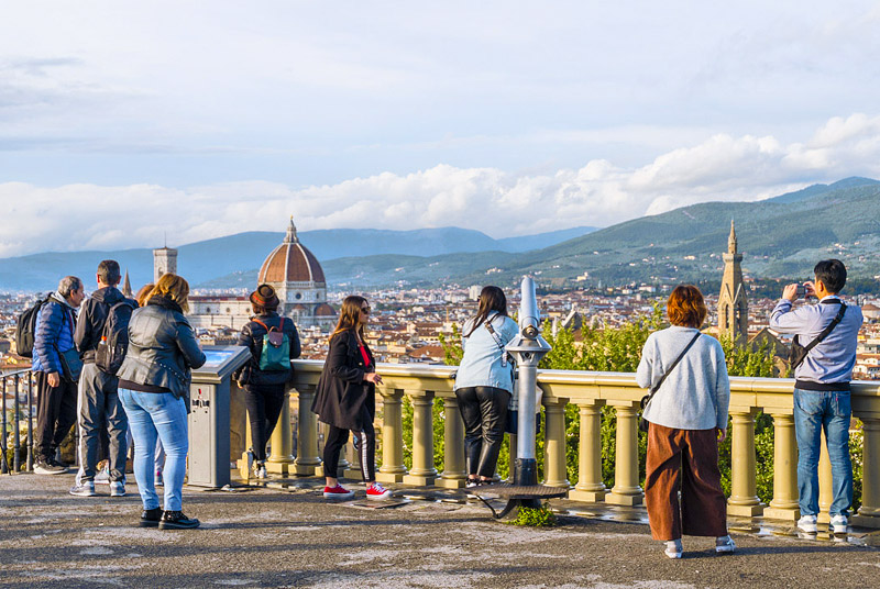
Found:
[[[74,342],[82,357],[79,378],[79,471],[70,494],[94,497],[101,430],[107,427],[110,496],[125,494],[125,434],[129,421],[117,388],[116,371],[122,364],[129,341],[129,320],[138,302],[127,299],[117,285],[122,278],[119,263],[105,259],[98,265],[98,290],[82,303]]]

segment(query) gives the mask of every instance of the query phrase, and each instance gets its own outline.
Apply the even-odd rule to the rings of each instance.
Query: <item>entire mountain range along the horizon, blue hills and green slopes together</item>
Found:
[[[322,230],[299,232],[342,288],[444,282],[619,285],[719,277],[730,221],[747,275],[809,277],[817,259],[839,257],[850,275],[880,275],[880,181],[846,178],[752,202],[705,202],[605,229],[574,227],[493,240],[479,231]],[[178,270],[202,288],[252,288],[283,233],[249,232],[178,247]],[[370,253],[370,255],[364,255]],[[462,255],[466,254],[466,255]],[[112,257],[135,288],[152,279],[152,251],[47,253],[0,259],[0,288],[51,288],[58,277],[91,277]],[[580,278],[579,278],[580,277]]]

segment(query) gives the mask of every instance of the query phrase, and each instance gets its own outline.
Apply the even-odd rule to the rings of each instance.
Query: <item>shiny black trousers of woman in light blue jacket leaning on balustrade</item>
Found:
[[[468,476],[492,478],[504,442],[510,393],[495,387],[465,387],[455,391],[464,421],[464,458]]]

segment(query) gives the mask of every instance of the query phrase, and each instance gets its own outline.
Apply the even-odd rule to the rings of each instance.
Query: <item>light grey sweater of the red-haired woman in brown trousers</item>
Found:
[[[636,373],[639,387],[650,389],[675,362],[697,330],[671,326],[645,342]],[[727,427],[730,381],[717,340],[701,335],[663,380],[645,410],[645,419],[678,430]]]

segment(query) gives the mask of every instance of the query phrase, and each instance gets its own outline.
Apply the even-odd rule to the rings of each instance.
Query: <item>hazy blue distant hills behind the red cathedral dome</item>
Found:
[[[538,235],[494,240],[473,230],[460,227],[386,230],[301,231],[299,238],[327,268],[330,260],[369,254],[437,256],[451,253],[487,251],[524,252],[544,247],[572,236],[584,235],[595,227],[574,227]],[[246,232],[179,246],[178,271],[194,286],[253,286],[263,259],[284,240],[284,233]],[[62,276],[73,274],[95,280],[95,269],[105,258],[119,260],[136,289],[153,279],[153,253],[148,248],[110,252],[44,253],[0,259],[0,289],[48,290]],[[344,263],[340,268],[348,267]],[[253,275],[253,278],[250,276]],[[249,278],[245,281],[245,276]],[[329,280],[345,281],[345,276],[328,274]]]

